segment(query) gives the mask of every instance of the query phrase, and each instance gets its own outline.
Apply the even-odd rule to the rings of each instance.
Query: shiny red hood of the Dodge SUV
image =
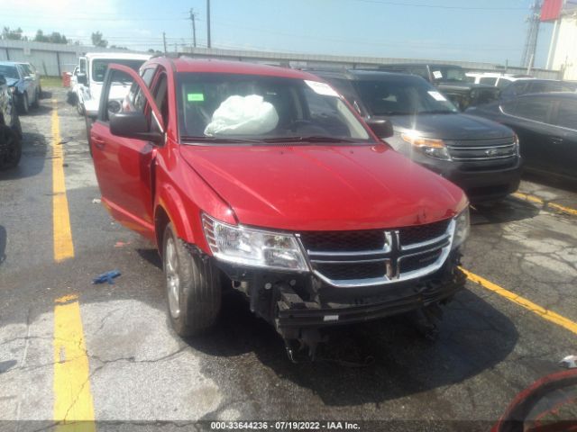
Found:
[[[239,223],[270,229],[397,228],[463,208],[457,186],[384,144],[180,146]]]

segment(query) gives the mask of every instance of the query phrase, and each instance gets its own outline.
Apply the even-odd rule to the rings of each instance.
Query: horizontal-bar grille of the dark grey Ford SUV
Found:
[[[483,139],[447,142],[451,158],[458,162],[490,162],[502,165],[514,163],[517,158],[517,144],[513,138]]]

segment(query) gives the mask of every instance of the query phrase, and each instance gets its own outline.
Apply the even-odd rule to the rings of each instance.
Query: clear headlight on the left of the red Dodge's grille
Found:
[[[293,235],[228,225],[206,214],[202,225],[208,247],[217,259],[245,266],[308,271]]]

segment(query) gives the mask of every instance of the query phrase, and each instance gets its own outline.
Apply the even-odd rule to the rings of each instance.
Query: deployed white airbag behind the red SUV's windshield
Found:
[[[213,113],[205,135],[261,135],[277,127],[279,114],[262,96],[230,96]]]

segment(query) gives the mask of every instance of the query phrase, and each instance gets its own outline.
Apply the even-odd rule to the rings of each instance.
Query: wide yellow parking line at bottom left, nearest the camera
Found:
[[[59,432],[95,432],[87,347],[78,296],[54,306],[54,420]]]

